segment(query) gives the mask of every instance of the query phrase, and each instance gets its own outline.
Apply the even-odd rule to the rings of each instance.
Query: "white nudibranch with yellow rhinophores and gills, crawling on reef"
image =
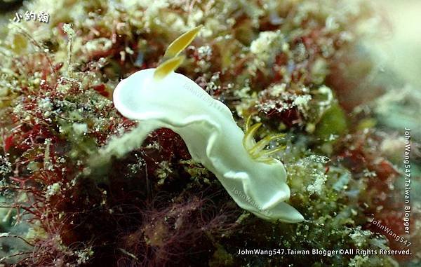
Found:
[[[285,200],[290,197],[283,164],[264,150],[268,139],[256,143],[236,125],[231,111],[210,97],[199,85],[174,70],[184,60],[179,56],[201,27],[178,37],[156,69],[143,69],[123,79],[115,88],[116,109],[126,118],[140,121],[138,142],[149,132],[169,128],[182,137],[193,160],[218,177],[229,195],[244,210],[262,219],[298,222],[304,218]],[[269,138],[270,139],[270,138]]]

